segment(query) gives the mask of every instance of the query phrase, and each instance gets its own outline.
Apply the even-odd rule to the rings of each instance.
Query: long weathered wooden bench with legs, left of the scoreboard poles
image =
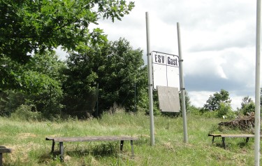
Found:
[[[124,141],[130,141],[131,152],[133,152],[133,141],[138,140],[138,137],[129,137],[129,136],[89,136],[89,137],[47,137],[45,140],[52,140],[52,149],[51,153],[54,153],[54,144],[59,142],[59,151],[60,151],[60,160],[64,160],[64,142],[73,142],[73,141],[120,141],[120,151],[123,150]]]

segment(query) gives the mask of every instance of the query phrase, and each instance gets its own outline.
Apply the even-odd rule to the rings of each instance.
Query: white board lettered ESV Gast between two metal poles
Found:
[[[167,53],[152,52],[153,85],[178,88],[180,90],[179,57]]]

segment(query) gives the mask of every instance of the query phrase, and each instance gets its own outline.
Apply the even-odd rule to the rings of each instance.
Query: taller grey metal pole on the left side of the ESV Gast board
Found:
[[[150,21],[148,12],[145,13],[147,27],[147,71],[148,71],[148,95],[150,99],[150,138],[151,146],[154,146],[154,112],[153,112],[153,83],[152,83],[152,58],[150,50]]]

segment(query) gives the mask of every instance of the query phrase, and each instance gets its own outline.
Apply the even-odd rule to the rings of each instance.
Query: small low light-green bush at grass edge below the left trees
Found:
[[[11,118],[20,120],[41,120],[42,113],[35,110],[34,105],[20,105],[14,113],[11,114]]]

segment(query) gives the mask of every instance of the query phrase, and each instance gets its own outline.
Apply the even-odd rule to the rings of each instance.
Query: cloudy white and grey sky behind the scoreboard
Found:
[[[232,107],[255,95],[256,1],[133,0],[135,8],[122,21],[100,20],[110,41],[120,37],[143,50],[147,64],[145,12],[150,21],[150,47],[178,55],[177,22],[184,84],[191,104],[202,107],[214,92],[227,90]]]

